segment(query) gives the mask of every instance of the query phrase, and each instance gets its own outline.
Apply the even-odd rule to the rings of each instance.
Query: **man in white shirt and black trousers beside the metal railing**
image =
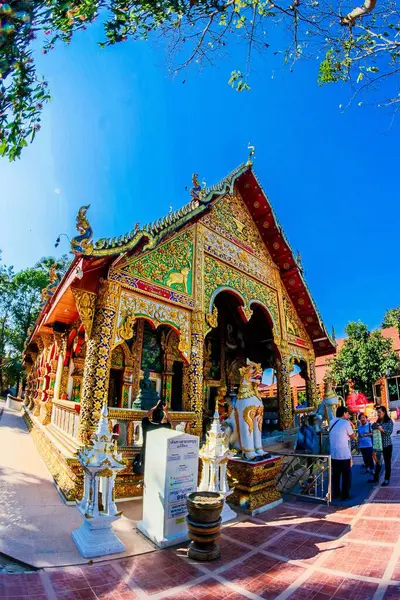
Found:
[[[341,477],[343,500],[348,500],[350,497],[350,440],[355,438],[349,418],[348,408],[339,406],[336,410],[336,419],[333,419],[329,426],[329,445],[332,457],[332,498],[339,498],[340,496]]]

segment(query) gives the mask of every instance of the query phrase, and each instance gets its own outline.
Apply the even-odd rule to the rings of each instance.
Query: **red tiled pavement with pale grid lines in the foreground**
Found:
[[[400,437],[400,436],[399,436]],[[400,598],[400,439],[389,488],[360,506],[285,502],[223,530],[209,564],[174,548],[96,565],[0,575],[22,600],[380,600]],[[397,462],[396,462],[397,461]]]

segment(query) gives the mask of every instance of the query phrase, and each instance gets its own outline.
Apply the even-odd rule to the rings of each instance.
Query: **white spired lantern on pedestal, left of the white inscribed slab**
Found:
[[[83,516],[72,538],[85,558],[124,552],[125,546],[112,530],[112,523],[121,517],[114,502],[115,478],[125,468],[122,455],[108,425],[108,408],[103,406],[92,445],[78,453],[84,472],[83,498],[77,502]]]

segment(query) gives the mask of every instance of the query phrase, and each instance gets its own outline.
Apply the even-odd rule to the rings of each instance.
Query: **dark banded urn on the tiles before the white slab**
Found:
[[[200,561],[219,558],[221,551],[216,540],[221,532],[224,496],[218,492],[193,492],[188,495],[186,502],[191,540],[189,558]]]

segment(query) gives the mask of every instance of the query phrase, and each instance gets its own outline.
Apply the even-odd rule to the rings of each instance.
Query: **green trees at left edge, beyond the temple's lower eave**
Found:
[[[24,342],[39,314],[42,289],[49,284],[49,270],[56,265],[61,277],[69,258],[42,258],[34,267],[15,273],[0,264],[0,392],[14,385],[22,373]]]

